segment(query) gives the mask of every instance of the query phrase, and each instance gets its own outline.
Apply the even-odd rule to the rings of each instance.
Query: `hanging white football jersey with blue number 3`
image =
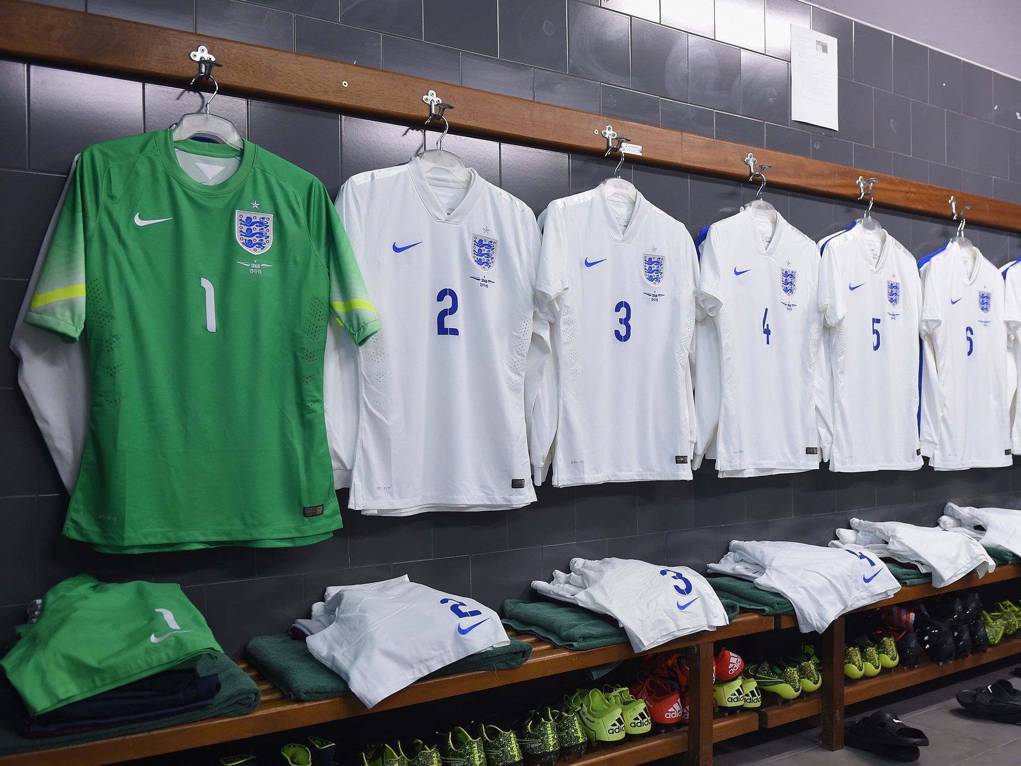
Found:
[[[536,290],[555,354],[532,421],[536,484],[554,435],[555,486],[691,478],[697,285],[684,225],[640,193],[549,203]]]

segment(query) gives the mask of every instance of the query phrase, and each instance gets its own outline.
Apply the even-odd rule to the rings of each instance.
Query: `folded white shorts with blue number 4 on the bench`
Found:
[[[790,600],[803,633],[822,633],[840,615],[887,599],[901,583],[874,554],[779,540],[732,540],[709,571],[752,580]]]

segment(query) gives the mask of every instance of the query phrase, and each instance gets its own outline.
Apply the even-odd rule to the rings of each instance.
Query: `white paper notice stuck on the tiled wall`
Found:
[[[790,116],[838,130],[836,38],[790,26]]]

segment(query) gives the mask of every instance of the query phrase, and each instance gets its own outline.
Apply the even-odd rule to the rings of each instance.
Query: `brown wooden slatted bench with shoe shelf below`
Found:
[[[975,575],[969,575],[945,588],[934,588],[932,585],[904,587],[895,596],[882,602],[881,605],[920,601],[938,593],[1004,582],[1017,577],[1021,577],[1021,566],[998,567],[995,572],[986,575],[981,580]],[[862,612],[874,608],[875,606],[858,611]],[[620,766],[628,766],[688,753],[690,763],[709,766],[712,763],[714,743],[760,728],[773,728],[805,719],[816,719],[817,725],[824,732],[824,745],[836,750],[842,747],[843,708],[845,705],[1021,654],[1021,639],[1005,638],[985,654],[972,655],[964,660],[935,665],[928,662],[928,659],[923,656],[917,668],[911,670],[895,668],[883,671],[874,678],[863,678],[859,681],[845,683],[843,675],[844,619],[840,618],[822,636],[823,662],[827,673],[824,676],[823,687],[819,692],[790,703],[766,704],[758,712],[742,711],[725,717],[714,717],[712,675],[714,643],[773,630],[790,630],[796,626],[796,621],[790,616],[766,617],[760,614],[741,613],[734,618],[730,625],[716,631],[695,633],[658,647],[651,652],[643,653],[684,652],[686,654],[691,665],[691,720],[689,725],[665,734],[627,741],[605,750],[597,750],[585,755],[578,763],[612,762]],[[467,695],[520,681],[595,667],[610,662],[633,660],[639,656],[632,652],[627,643],[585,652],[572,652],[557,649],[547,641],[527,633],[512,633],[512,635],[532,645],[532,657],[524,665],[510,670],[458,673],[422,680],[388,697],[372,710],[368,710],[353,695],[311,702],[284,700],[280,689],[262,678],[255,668],[247,663],[240,663],[262,693],[259,706],[247,716],[213,718],[71,747],[2,756],[0,757],[0,766],[39,764],[42,758],[46,758],[46,762],[61,763],[66,766],[100,766],[101,764],[119,763],[134,758],[174,753],[191,748],[244,739],[259,734],[354,718],[381,710],[392,710]],[[824,711],[826,711],[826,715],[824,715]]]

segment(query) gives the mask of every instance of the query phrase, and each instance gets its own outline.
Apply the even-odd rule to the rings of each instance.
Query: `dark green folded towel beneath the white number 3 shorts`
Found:
[[[628,635],[613,618],[558,602],[503,602],[503,624],[532,633],[554,647],[583,651],[627,643]]]

